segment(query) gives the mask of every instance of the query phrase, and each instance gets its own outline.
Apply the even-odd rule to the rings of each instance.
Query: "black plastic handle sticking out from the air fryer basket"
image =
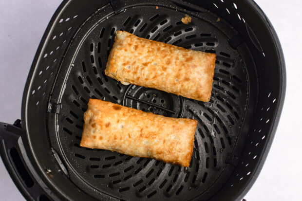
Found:
[[[36,179],[38,174],[30,163],[24,139],[26,131],[21,128],[20,120],[16,120],[14,125],[0,123],[0,155],[19,191],[26,200],[50,201],[41,187],[42,181]]]

